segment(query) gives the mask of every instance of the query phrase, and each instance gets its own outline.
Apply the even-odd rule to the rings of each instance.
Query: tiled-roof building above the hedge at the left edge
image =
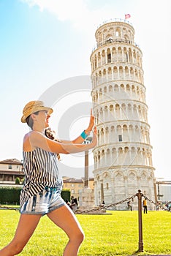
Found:
[[[0,161],[0,184],[15,184],[15,178],[24,177],[23,163],[18,159]]]

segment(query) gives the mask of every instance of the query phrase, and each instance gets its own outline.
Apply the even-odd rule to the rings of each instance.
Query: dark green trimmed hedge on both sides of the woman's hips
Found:
[[[0,204],[20,204],[21,187],[0,187]],[[63,189],[61,197],[70,201],[70,191]]]

